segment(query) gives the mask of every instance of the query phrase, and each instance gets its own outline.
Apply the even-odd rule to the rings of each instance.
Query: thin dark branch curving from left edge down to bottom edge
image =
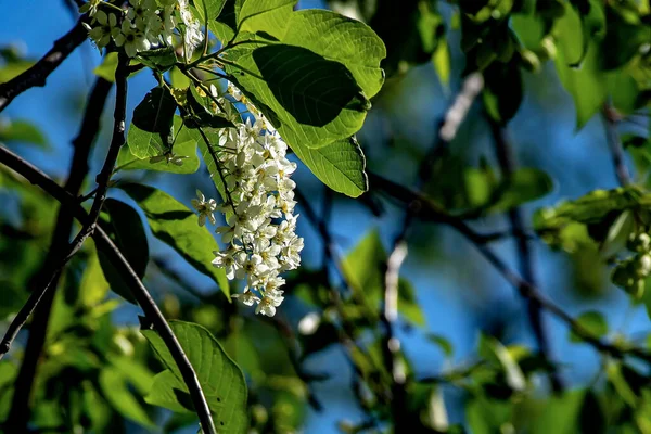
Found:
[[[68,207],[79,222],[82,225],[89,224],[90,217],[81,207],[81,205],[77,203],[77,199],[67,193],[63,188],[61,188],[37,167],[33,166],[3,146],[0,146],[0,164],[3,164],[4,166],[15,170],[29,182],[43,189],[48,194],[59,201],[62,206]],[[111,264],[116,268],[136,297],[136,301],[144,311],[146,318],[161,334],[161,339],[163,339],[165,342],[165,345],[169,349],[169,353],[179,367],[179,371],[181,372],[183,381],[188,386],[192,404],[197,412],[204,432],[208,434],[216,434],[210,409],[201,388],[201,384],[199,383],[199,379],[196,378],[196,373],[194,372],[190,360],[188,360],[183,348],[171,331],[169,324],[165,320],[165,317],[163,314],[161,314],[158,306],[152,298],[146,288],[144,288],[140,281],[140,278],[138,278],[138,275],[136,275],[136,271],[133,271],[119,248],[117,248],[117,246],[102,230],[102,228],[97,227],[91,237],[94,240],[98,250],[104,253]]]

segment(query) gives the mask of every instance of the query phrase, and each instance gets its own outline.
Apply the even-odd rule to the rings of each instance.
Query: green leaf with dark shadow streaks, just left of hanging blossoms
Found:
[[[154,237],[177,251],[197,271],[213,278],[230,298],[228,280],[222,268],[212,265],[213,252],[219,245],[206,227],[200,227],[196,215],[169,194],[136,183],[120,188],[144,212]]]

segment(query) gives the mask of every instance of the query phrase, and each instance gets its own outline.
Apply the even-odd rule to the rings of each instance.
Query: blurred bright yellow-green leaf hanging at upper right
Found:
[[[574,99],[576,106],[576,129],[582,129],[597,113],[605,100],[608,87],[604,75],[600,71],[601,51],[595,43],[586,48],[585,59],[578,67],[571,67],[583,56],[580,18],[570,7],[558,20],[554,27],[558,38],[557,72],[565,90]]]

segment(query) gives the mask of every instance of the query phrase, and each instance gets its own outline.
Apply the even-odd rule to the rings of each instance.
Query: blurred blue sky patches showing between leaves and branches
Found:
[[[299,1],[298,7],[331,8],[333,4]],[[339,3],[334,7],[342,10],[346,5]],[[439,9],[446,18],[449,80],[442,80],[430,61],[410,65],[404,73],[392,75],[373,101],[373,108],[358,135],[368,158],[368,168],[406,184],[414,181],[416,168],[435,140],[442,116],[462,84],[464,55],[459,48],[460,30],[452,25],[454,7],[439,2]],[[347,11],[350,13],[352,9]],[[75,20],[63,1],[21,2],[7,9],[0,18],[0,44],[11,44],[27,58],[38,59],[51,48],[54,39],[71,28]],[[396,20],[395,31],[407,31],[410,25]],[[93,82],[92,71],[100,63],[97,49],[89,42],[84,43],[48,78],[48,86],[20,95],[0,117],[0,123],[24,119],[38,128],[44,139],[42,145],[20,141],[9,145],[59,180],[67,173],[72,153],[69,143],[77,133],[85,100]],[[155,85],[154,78],[146,73],[129,80],[128,113]],[[545,171],[553,182],[548,194],[524,205],[526,221],[531,221],[531,214],[541,206],[578,197],[595,189],[616,187],[602,118],[595,116],[584,128],[576,130],[573,100],[562,88],[553,63],[542,64],[537,73],[525,72],[524,89],[522,105],[509,124],[509,136],[520,165]],[[107,106],[111,106],[111,100]],[[91,174],[101,167],[110,140],[111,116],[110,110],[103,114],[103,128],[94,150]],[[648,118],[637,120],[622,125],[622,132],[648,129]],[[473,105],[449,150],[450,165],[478,166],[482,161],[495,162],[489,126],[482,114],[481,103]],[[203,168],[191,176],[159,173],[127,175],[161,188],[188,205],[195,189],[210,191],[209,179]],[[433,191],[443,191],[439,187],[446,182],[445,176],[445,167],[435,173]],[[343,256],[371,230],[378,230],[385,247],[388,247],[400,229],[404,209],[392,203],[382,202],[381,213],[374,215],[360,201],[328,193],[303,166],[294,179],[318,213],[326,202],[332,201],[329,229]],[[112,195],[128,201],[119,192],[112,192]],[[0,212],[9,216],[7,218],[13,215],[16,201],[15,196],[0,190]],[[507,229],[508,220],[503,215],[494,215],[472,225],[477,231],[490,232]],[[299,219],[298,232],[305,238],[304,267],[320,268],[323,245],[318,232],[306,218]],[[209,279],[193,272],[170,248],[153,238],[150,241],[152,256],[165,259],[193,290],[202,294],[216,291]],[[535,346],[522,299],[462,237],[441,226],[417,224],[409,232],[408,243],[409,255],[401,276],[416,289],[425,327],[408,327],[400,320],[397,333],[417,376],[434,375],[472,360],[480,331],[497,334],[505,343]],[[495,242],[493,247],[513,268],[518,267],[512,240]],[[605,316],[612,333],[646,340],[650,330],[644,308],[631,306],[628,296],[612,286],[608,270],[596,254],[554,252],[537,239],[532,247],[539,288],[550,299],[574,316],[585,310],[598,310]],[[202,303],[159,272],[153,271],[148,276],[152,277],[145,283],[168,312],[174,315],[175,309],[186,305],[196,307]],[[279,315],[296,328],[309,311],[298,301],[289,299]],[[114,312],[114,319],[118,323],[137,324],[138,312],[138,308],[124,304]],[[545,314],[544,320],[550,337],[551,356],[558,362],[565,383],[579,385],[590,382],[600,368],[595,350],[588,345],[569,342],[566,327],[549,315]],[[0,330],[4,328],[2,324]],[[447,357],[433,345],[427,339],[430,334],[448,340],[454,355]],[[275,349],[270,347],[267,350],[273,353]],[[277,371],[278,367],[267,363],[282,362],[282,358],[271,357],[263,359],[259,368]],[[330,346],[310,356],[305,366],[310,371],[328,374],[329,379],[314,384],[314,394],[323,405],[323,410],[304,407],[304,432],[337,432],[336,424],[342,419],[362,420],[362,412],[349,388],[353,371],[341,346]],[[463,423],[463,394],[454,387],[444,387],[444,396],[450,422]],[[137,424],[127,424],[129,432],[146,432]]]

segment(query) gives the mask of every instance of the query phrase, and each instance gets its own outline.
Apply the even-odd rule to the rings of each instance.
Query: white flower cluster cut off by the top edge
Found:
[[[98,48],[113,40],[129,58],[162,44],[171,46],[178,24],[184,30],[180,35],[188,59],[204,38],[188,0],[129,0],[126,10],[102,0],[89,0],[79,11],[92,17],[90,25],[84,25]]]

